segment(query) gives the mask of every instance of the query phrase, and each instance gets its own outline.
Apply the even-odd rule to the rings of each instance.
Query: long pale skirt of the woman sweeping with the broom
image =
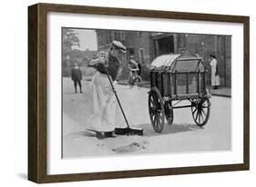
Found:
[[[97,72],[88,89],[90,119],[87,128],[98,132],[125,128],[126,123],[112,91],[107,74]]]

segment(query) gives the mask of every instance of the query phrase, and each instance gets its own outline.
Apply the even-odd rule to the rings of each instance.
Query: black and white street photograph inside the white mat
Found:
[[[63,159],[231,150],[231,35],[61,34]]]

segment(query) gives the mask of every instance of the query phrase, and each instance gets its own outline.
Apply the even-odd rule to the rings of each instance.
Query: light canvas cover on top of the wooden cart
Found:
[[[200,58],[189,54],[163,54],[155,58],[150,70],[162,72],[196,72],[204,71]]]

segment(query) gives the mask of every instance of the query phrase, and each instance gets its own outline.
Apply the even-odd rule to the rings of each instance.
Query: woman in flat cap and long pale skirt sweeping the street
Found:
[[[121,56],[126,49],[121,42],[113,41],[108,54],[100,54],[97,59],[88,64],[88,66],[95,67],[97,73],[89,89],[92,114],[87,129],[96,132],[97,138],[115,137],[115,128],[127,127],[107,75],[108,71],[110,81],[116,88],[122,69]]]

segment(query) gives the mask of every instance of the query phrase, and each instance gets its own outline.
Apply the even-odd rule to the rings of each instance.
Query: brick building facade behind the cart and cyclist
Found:
[[[172,34],[138,31],[97,30],[98,51],[108,51],[113,40],[128,48],[121,78],[128,79],[128,61],[134,55],[142,65],[142,78],[148,80],[149,64],[161,54],[189,53],[200,55],[210,70],[210,54],[219,63],[221,86],[231,87],[231,36],[211,34]],[[210,79],[210,74],[209,74]]]

